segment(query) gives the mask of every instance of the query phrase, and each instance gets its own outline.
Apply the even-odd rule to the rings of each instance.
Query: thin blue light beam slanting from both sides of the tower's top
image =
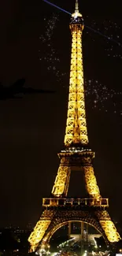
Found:
[[[43,2],[46,2],[46,3],[49,4],[50,6],[54,6],[54,7],[56,7],[57,9],[60,9],[60,10],[61,10],[62,12],[64,12],[64,13],[68,13],[69,15],[72,15],[72,13],[69,13],[69,12],[66,11],[65,9],[62,9],[62,8],[59,7],[59,6],[54,5],[52,2],[49,2],[49,1],[47,1],[47,0],[43,0]],[[118,41],[116,41],[115,39],[112,39],[112,38],[110,38],[109,36],[104,35],[104,34],[102,34],[101,32],[98,32],[98,31],[95,30],[94,28],[88,27],[87,25],[85,25],[85,27],[88,28],[88,29],[90,29],[92,32],[97,33],[98,35],[102,35],[103,37],[105,37],[105,39],[108,39],[109,41],[112,41],[113,43],[116,43],[118,46],[121,46],[121,47],[122,47],[122,44],[119,43]]]

